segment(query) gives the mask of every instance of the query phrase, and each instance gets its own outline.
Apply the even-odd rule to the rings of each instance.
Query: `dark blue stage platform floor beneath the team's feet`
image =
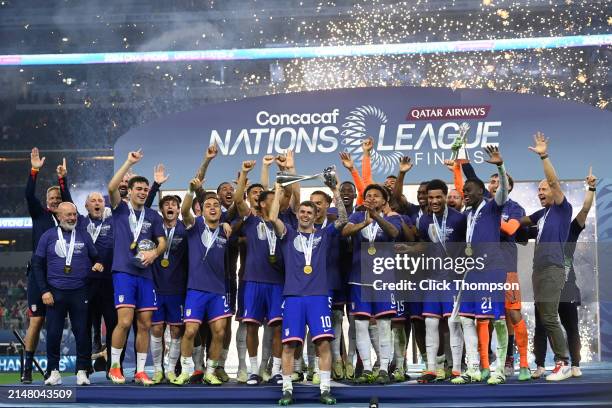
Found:
[[[127,370],[126,370],[127,371]],[[131,373],[128,373],[131,378]],[[414,373],[416,378],[417,373]],[[41,387],[40,384],[23,386],[21,384],[5,385],[1,388],[3,403],[7,389],[70,389],[74,392],[72,402],[81,404],[113,405],[180,405],[180,404],[214,404],[214,405],[272,405],[280,397],[280,386],[260,385],[257,387],[237,384],[233,380],[220,387],[205,385],[187,385],[177,387],[163,384],[142,387],[127,383],[112,385],[103,373],[91,377],[92,385],[76,386],[76,377],[63,378],[63,385],[58,387]],[[506,384],[490,386],[486,384],[452,385],[448,382],[417,384],[415,380],[392,385],[352,385],[333,383],[333,393],[341,405],[367,406],[373,397],[380,404],[387,406],[554,406],[554,405],[612,405],[612,364],[596,364],[583,368],[583,376],[566,381],[552,383],[545,380],[532,380],[519,383],[511,378]],[[294,396],[297,404],[316,403],[319,395],[318,386],[308,383],[294,384]],[[17,402],[13,400],[13,402]],[[21,403],[37,401],[21,400]],[[51,402],[51,401],[48,401]],[[54,402],[60,402],[55,400]],[[66,401],[67,402],[67,401]],[[66,404],[68,405],[68,404]],[[382,406],[382,405],[381,405]]]

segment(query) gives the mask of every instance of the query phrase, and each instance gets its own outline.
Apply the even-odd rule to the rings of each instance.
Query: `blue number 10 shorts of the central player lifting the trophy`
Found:
[[[282,341],[304,342],[306,326],[312,340],[334,339],[329,296],[286,296],[283,302]]]

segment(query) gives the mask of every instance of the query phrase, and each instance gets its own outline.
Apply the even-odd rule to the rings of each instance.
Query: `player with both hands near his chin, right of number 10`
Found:
[[[399,235],[401,229],[398,215],[383,215],[382,211],[388,202],[387,190],[378,185],[370,184],[364,191],[365,211],[355,212],[349,217],[348,224],[342,230],[345,237],[353,237],[353,261],[349,284],[351,285],[351,314],[355,316],[357,349],[363,362],[363,373],[356,379],[358,383],[376,380],[380,384],[390,381],[387,373],[389,357],[391,355],[391,317],[397,313],[392,294],[388,294],[385,301],[371,302],[362,300],[363,284],[361,276],[362,243],[368,243],[368,255],[376,252],[374,242],[392,242]],[[364,255],[366,256],[366,255]],[[370,318],[377,320],[378,339],[380,347],[380,371],[377,378],[372,373],[370,361]]]

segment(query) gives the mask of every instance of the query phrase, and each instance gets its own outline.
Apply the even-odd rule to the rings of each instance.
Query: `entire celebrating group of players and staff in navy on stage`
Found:
[[[263,157],[258,183],[249,181],[256,161],[245,161],[236,181],[206,190],[206,173],[218,155],[211,145],[185,196],[160,194],[159,212],[150,207],[168,176],[163,165],[155,167],[152,185],[135,175],[132,167],[143,157],[138,150],[128,154],[110,180],[107,196],[89,193],[87,214],[79,214],[73,204],[65,160],[57,166],[58,185],[47,190],[46,205],[36,198],[45,158],[34,148],[26,187],[33,254],[22,381],[32,381],[34,353],[46,321],[45,384],[61,384],[67,316],[76,340],[78,385],[90,384],[92,343],[94,351],[100,348],[102,318],[105,371],[113,383],[126,382],[123,360],[130,330],[133,380],[147,386],[229,381],[225,364],[234,335],[236,381],[279,385],[281,405],[293,402],[293,383],[304,380],[320,386],[324,404],[336,402],[332,379],[358,384],[409,380],[411,333],[425,364],[419,383],[502,384],[515,374],[515,346],[518,380],[540,378],[546,373],[547,340],[556,365],[546,380],[580,376],[580,292],[573,254],[593,203],[596,177],[589,171],[582,209],[572,220],[572,205],[548,145],[538,132],[529,147],[544,170],[538,186],[542,209],[530,215],[510,198],[514,181],[493,146],[485,149],[486,162],[496,169],[487,184],[469,162],[446,161],[454,189],[442,180],[423,181],[413,204],[403,195],[413,166],[410,158],[400,160],[397,176],[376,183],[371,138],[362,143],[361,173],[349,153],[340,154],[353,182],[340,183],[333,173],[325,179],[329,191],[316,190],[306,201],[299,182],[277,179],[269,185],[273,165],[282,174],[297,174],[292,151]],[[519,290],[373,293],[362,267],[381,248],[442,257],[484,255],[482,270],[418,273],[438,282],[458,277],[468,283],[518,284],[517,245],[530,238],[535,240],[533,372]],[[235,333],[232,318],[238,322]],[[493,331],[495,353],[490,350]],[[149,352],[152,377],[145,371]]]

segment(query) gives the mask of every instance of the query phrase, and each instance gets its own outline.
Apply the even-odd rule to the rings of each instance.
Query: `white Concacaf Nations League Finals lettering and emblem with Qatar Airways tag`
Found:
[[[441,113],[442,112],[442,113]],[[374,138],[371,163],[376,174],[395,171],[400,157],[410,155],[416,165],[439,165],[452,156],[459,125],[470,119],[467,148],[475,163],[484,160],[481,147],[497,145],[501,121],[487,121],[489,107],[410,108],[390,117],[380,106],[359,105],[343,111],[333,107],[319,112],[254,112],[249,128],[211,129],[209,143],[226,156],[296,154],[348,151],[359,164],[361,144]],[[399,117],[398,117],[399,116]],[[474,123],[474,121],[476,121]]]

